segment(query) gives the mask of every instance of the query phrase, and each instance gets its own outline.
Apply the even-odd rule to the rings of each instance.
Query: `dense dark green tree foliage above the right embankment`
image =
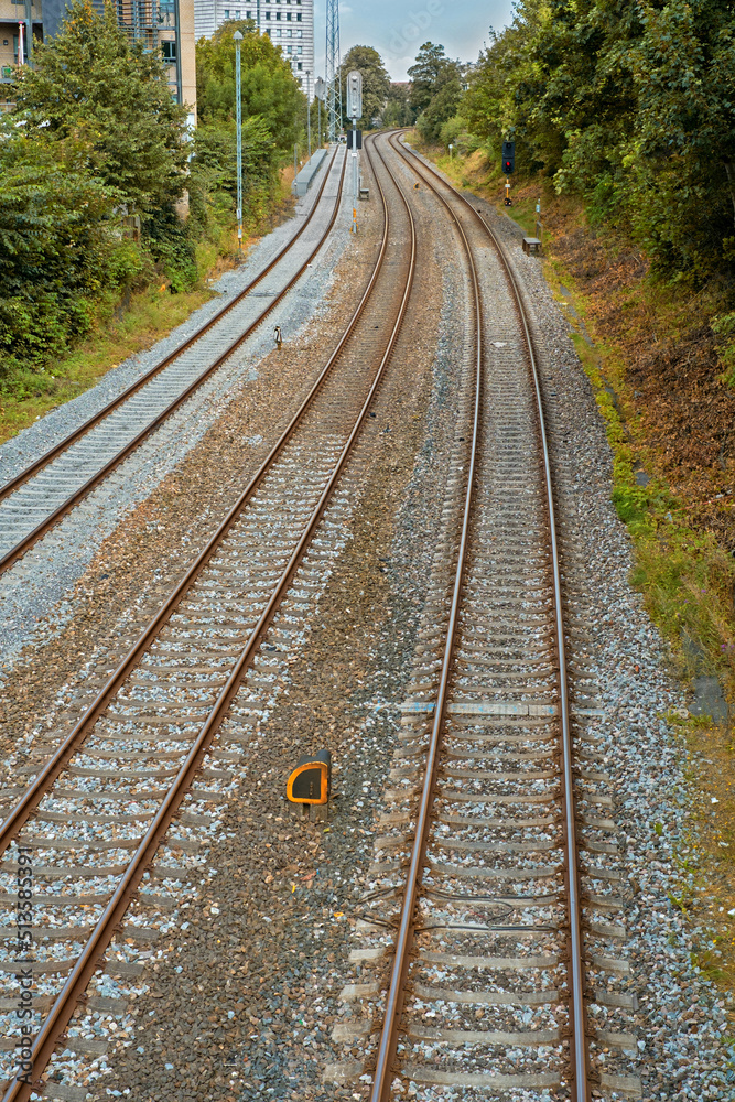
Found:
[[[514,137],[517,171],[583,196],[656,270],[735,273],[731,0],[520,0],[468,80],[444,141],[497,162]]]

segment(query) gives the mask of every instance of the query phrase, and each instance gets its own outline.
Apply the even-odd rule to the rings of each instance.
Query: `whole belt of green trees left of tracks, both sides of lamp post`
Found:
[[[228,23],[198,43],[202,125],[193,136],[161,58],[130,41],[111,4],[100,13],[73,0],[61,32],[36,43],[33,68],[19,71],[14,109],[0,115],[0,390],[39,390],[44,366],[122,295],[152,280],[188,290],[199,274],[197,244],[226,247],[238,25],[247,226],[272,202],[305,111],[269,37]],[[187,223],[176,208],[185,193]],[[139,240],[123,225],[132,215]]]

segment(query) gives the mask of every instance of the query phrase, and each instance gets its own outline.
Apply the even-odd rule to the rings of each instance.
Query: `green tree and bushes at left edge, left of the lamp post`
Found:
[[[155,242],[134,246],[120,218],[172,209],[188,152],[159,60],[109,9],[76,0],[34,58],[0,117],[0,379],[20,370],[31,387],[28,370],[86,333],[106,294],[153,269]]]

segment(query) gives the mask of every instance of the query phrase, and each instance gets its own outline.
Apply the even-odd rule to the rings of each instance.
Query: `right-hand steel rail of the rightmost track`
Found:
[[[388,140],[391,147],[398,152],[402,159],[409,164],[413,171],[422,177],[434,194],[444,203],[444,206],[450,209],[448,204],[444,197],[440,194],[439,190],[426,180],[423,172],[419,172],[415,168],[415,163],[421,165],[421,169],[431,176],[439,180],[444,187],[452,192],[457,198],[460,198],[463,204],[469,209],[473,217],[479,223],[484,233],[491,241],[498,258],[502,264],[505,273],[510,284],[510,289],[514,295],[516,309],[518,316],[520,318],[523,336],[526,339],[526,347],[528,352],[529,370],[531,375],[531,382],[533,386],[533,392],[536,396],[536,406],[538,411],[538,426],[539,435],[541,441],[541,452],[543,461],[543,473],[544,473],[544,488],[545,488],[545,499],[547,499],[547,514],[548,514],[548,525],[549,525],[549,542],[551,550],[551,566],[552,566],[552,585],[554,592],[554,622],[555,622],[555,637],[556,637],[556,659],[559,663],[559,699],[560,699],[560,719],[561,719],[561,734],[562,734],[562,791],[564,800],[564,843],[566,850],[566,868],[565,868],[565,879],[566,879],[566,896],[568,896],[568,917],[569,917],[569,937],[568,937],[568,951],[569,951],[569,966],[571,972],[571,998],[570,998],[570,1017],[572,1024],[572,1082],[571,1082],[571,1093],[573,1102],[590,1102],[590,1074],[588,1074],[588,1054],[587,1054],[587,1036],[586,1036],[586,1014],[584,1005],[584,963],[583,963],[583,943],[582,943],[582,928],[580,921],[581,906],[582,906],[582,890],[580,886],[579,876],[579,850],[576,843],[576,809],[574,801],[574,776],[573,776],[573,747],[572,747],[572,734],[571,734],[571,723],[570,723],[570,704],[569,704],[569,676],[566,671],[566,651],[564,644],[564,620],[563,620],[563,598],[562,598],[562,584],[561,584],[561,562],[559,553],[559,542],[556,539],[556,521],[555,521],[555,508],[554,508],[554,496],[553,496],[553,483],[552,483],[552,472],[551,472],[551,457],[549,451],[549,441],[545,430],[544,412],[543,412],[543,400],[541,393],[541,383],[539,378],[539,370],[537,365],[537,358],[533,348],[533,339],[528,325],[528,318],[526,315],[526,309],[523,306],[523,301],[521,298],[520,289],[518,287],[517,280],[512,273],[510,263],[505,255],[505,249],[500,245],[499,240],[493,233],[490,226],[487,224],[485,218],[479,214],[479,212],[473,207],[472,203],[462,195],[451,183],[448,183],[444,177],[432,169],[430,165],[425,164],[418,154],[411,150],[407,149],[402,143],[399,147],[397,144],[398,137],[401,131],[396,131]],[[410,154],[410,158],[409,158]],[[414,163],[415,162],[415,163]],[[458,225],[458,220],[454,213],[452,212],[455,223]],[[464,231],[463,231],[464,237]],[[465,238],[466,241],[466,238]],[[474,441],[473,441],[474,442]],[[442,681],[444,680],[444,669],[442,670]],[[441,691],[441,690],[440,690]],[[439,713],[439,701],[436,704],[436,713]],[[434,720],[434,727],[437,726],[437,716]],[[433,730],[432,730],[433,735]],[[418,830],[417,830],[418,833]],[[407,965],[408,966],[408,962]],[[397,1030],[398,1023],[396,1023]],[[381,1049],[382,1052],[382,1038],[381,1038]],[[386,1102],[388,1098],[387,1090],[383,1088],[383,1093],[378,1094],[375,1092],[371,1095],[372,1102]]]

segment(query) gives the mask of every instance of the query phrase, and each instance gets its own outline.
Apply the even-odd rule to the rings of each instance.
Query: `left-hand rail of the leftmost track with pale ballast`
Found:
[[[29,478],[32,478],[34,474],[41,471],[42,467],[47,466],[47,464],[51,463],[52,460],[56,458],[57,455],[61,455],[61,453],[66,451],[67,447],[71,447],[71,445],[76,443],[77,440],[80,440],[82,436],[86,435],[86,433],[89,432],[90,429],[94,429],[96,424],[99,424],[100,421],[104,421],[105,418],[112,412],[112,410],[117,409],[118,406],[122,406],[122,403],[126,402],[129,398],[131,398],[136,393],[136,391],[140,390],[141,387],[144,387],[145,383],[149,382],[155,375],[158,375],[165,367],[167,367],[169,364],[172,364],[174,359],[177,359],[182,353],[191,348],[192,345],[199,339],[199,337],[203,337],[205,333],[208,333],[209,329],[213,328],[217,324],[217,322],[225,316],[225,314],[227,314],[234,306],[236,306],[238,302],[241,302],[242,299],[245,299],[245,296],[249,294],[250,291],[252,291],[253,287],[257,287],[258,283],[260,283],[266,278],[266,276],[268,276],[273,270],[275,264],[278,264],[279,261],[283,259],[289,249],[293,245],[295,245],[295,242],[299,240],[299,238],[304,233],[310,222],[314,217],[316,208],[318,207],[320,204],[320,199],[322,198],[324,188],[326,187],[327,181],[329,179],[329,173],[334,165],[336,155],[337,155],[337,150],[335,149],[334,153],[332,154],[332,160],[329,161],[328,168],[324,175],[322,186],[316,193],[316,198],[314,199],[314,203],[312,205],[311,210],[309,212],[307,217],[304,219],[299,230],[293,235],[292,238],[290,238],[285,242],[283,248],[279,249],[273,259],[268,262],[268,264],[263,268],[263,270],[258,276],[256,276],[255,279],[252,279],[247,287],[245,287],[241,291],[238,291],[238,293],[229,302],[227,302],[224,306],[221,306],[216,312],[216,314],[213,314],[213,316],[207,322],[205,322],[197,329],[195,329],[190,337],[187,337],[180,345],[177,345],[173,349],[173,352],[169,353],[167,356],[164,356],[163,359],[160,359],[158,364],[154,364],[153,367],[149,368],[149,370],[145,371],[143,375],[141,375],[139,379],[137,379],[134,382],[131,382],[129,387],[126,387],[126,389],[121,391],[121,393],[119,393],[117,398],[114,398],[111,401],[109,401],[105,407],[102,407],[101,410],[98,410],[97,413],[88,418],[84,422],[84,424],[80,424],[67,436],[64,436],[63,440],[60,440],[57,444],[54,444],[53,447],[50,447],[47,452],[44,452],[43,455],[39,456],[39,458],[35,460],[33,463],[29,464],[28,467],[23,467],[23,469],[20,471],[12,478],[10,478],[9,482],[3,483],[2,486],[0,486],[0,501],[2,501],[6,497],[8,497],[10,494],[17,490],[19,486],[22,486],[23,483],[28,482]]]

